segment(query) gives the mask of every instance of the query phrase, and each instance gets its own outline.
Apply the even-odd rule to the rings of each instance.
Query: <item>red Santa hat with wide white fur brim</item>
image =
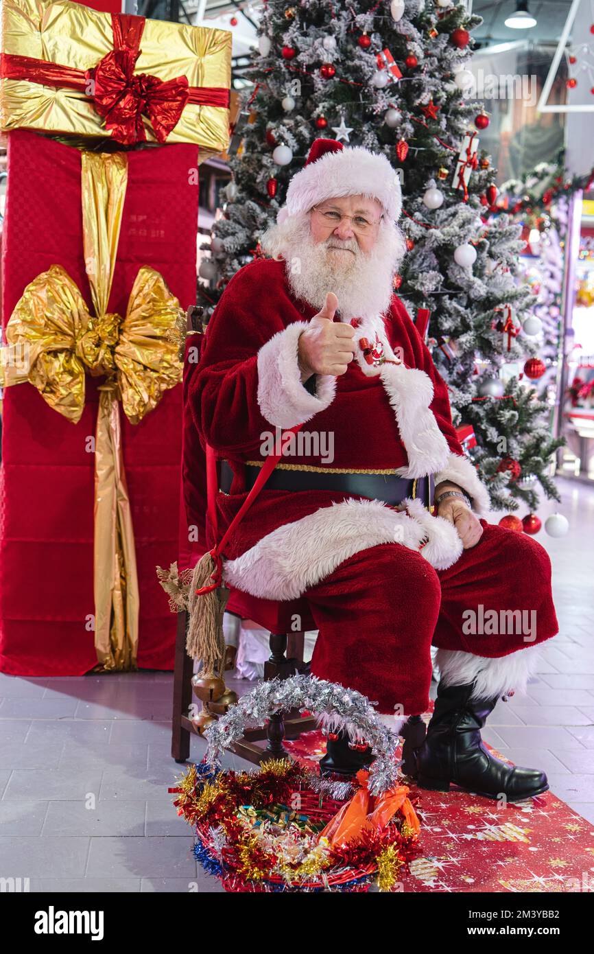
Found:
[[[395,221],[402,208],[399,177],[385,156],[336,139],[316,139],[289,183],[286,214],[297,216],[327,198],[343,196],[377,198]]]

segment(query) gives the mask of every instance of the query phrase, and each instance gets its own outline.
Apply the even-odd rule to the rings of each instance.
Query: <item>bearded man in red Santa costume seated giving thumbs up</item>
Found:
[[[271,258],[240,269],[215,309],[190,400],[201,439],[233,472],[220,525],[270,436],[296,425],[308,436],[290,442],[233,534],[223,578],[257,597],[307,598],[312,673],[377,702],[421,786],[528,798],[548,787],[543,772],[492,757],[480,730],[557,633],[550,562],[529,536],[481,519],[486,488],[393,293],[400,204],[384,156],[317,140],[262,239]],[[432,643],[440,685],[425,738]],[[327,770],[369,760],[348,725],[329,728]]]

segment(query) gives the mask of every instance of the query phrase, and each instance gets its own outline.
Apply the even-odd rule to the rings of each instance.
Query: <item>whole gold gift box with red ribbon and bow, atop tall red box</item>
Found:
[[[24,16],[28,12],[31,17]],[[211,153],[227,148],[229,33],[101,13],[69,0],[5,0],[2,32],[2,129],[110,135],[127,146],[163,143],[175,130],[170,141],[197,142]],[[97,61],[102,47],[106,52]],[[75,63],[66,62],[71,59]],[[171,75],[172,64],[195,80],[212,75],[225,85],[191,85],[186,73]]]

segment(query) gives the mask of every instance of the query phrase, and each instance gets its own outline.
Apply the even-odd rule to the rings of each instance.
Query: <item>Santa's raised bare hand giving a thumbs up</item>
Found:
[[[334,321],[338,298],[328,292],[321,311],[314,315],[306,331],[299,335],[297,355],[301,381],[313,374],[344,374],[355,355],[355,329]]]

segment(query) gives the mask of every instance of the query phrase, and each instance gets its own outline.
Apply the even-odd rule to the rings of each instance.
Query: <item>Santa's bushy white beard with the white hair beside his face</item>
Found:
[[[326,293],[334,292],[338,314],[345,321],[375,317],[388,309],[394,274],[406,248],[398,226],[391,222],[381,222],[378,239],[368,253],[361,252],[357,239],[330,236],[315,242],[307,215],[274,225],[261,244],[273,257],[285,259],[287,280],[296,298],[319,310]]]

